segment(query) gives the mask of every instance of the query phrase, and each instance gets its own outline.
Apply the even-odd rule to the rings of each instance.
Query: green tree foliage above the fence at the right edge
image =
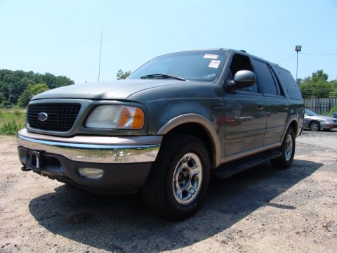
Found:
[[[302,93],[303,98],[328,98],[332,97],[337,88],[336,81],[327,82],[328,74],[323,70],[317,70],[312,73],[311,77],[305,79],[298,79],[298,86]]]

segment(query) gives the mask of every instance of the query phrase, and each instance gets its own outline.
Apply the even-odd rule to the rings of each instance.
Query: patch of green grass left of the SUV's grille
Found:
[[[25,109],[0,109],[0,134],[15,135],[25,126]]]

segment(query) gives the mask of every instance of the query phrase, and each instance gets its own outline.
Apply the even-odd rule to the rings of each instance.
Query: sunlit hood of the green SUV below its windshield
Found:
[[[74,84],[57,89],[45,91],[34,96],[35,99],[46,98],[81,98],[81,99],[117,99],[125,100],[138,91],[151,89],[158,86],[173,84],[183,85],[188,81],[176,79],[125,79],[111,82],[91,82],[87,84]]]

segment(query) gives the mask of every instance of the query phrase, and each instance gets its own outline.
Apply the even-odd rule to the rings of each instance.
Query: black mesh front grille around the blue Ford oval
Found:
[[[69,131],[81,109],[80,104],[48,103],[29,105],[27,120],[31,128],[46,131]],[[45,112],[48,117],[41,121],[39,113]]]

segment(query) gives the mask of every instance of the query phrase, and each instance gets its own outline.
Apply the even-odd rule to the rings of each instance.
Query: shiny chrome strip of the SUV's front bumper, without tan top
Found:
[[[94,136],[92,138],[94,141]],[[62,155],[77,162],[104,164],[154,162],[160,148],[160,143],[151,145],[102,145],[46,141],[23,136],[20,132],[17,136],[17,141],[18,148],[23,147],[30,150]]]

